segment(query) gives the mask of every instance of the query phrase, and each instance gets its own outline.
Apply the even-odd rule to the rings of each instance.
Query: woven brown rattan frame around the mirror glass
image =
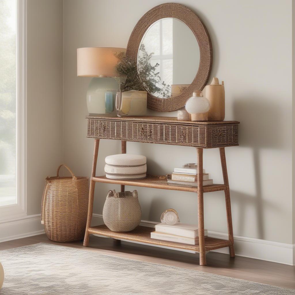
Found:
[[[206,27],[192,10],[177,3],[160,4],[141,17],[130,35],[127,56],[137,62],[138,48],[146,30],[154,22],[166,17],[181,20],[193,31],[200,48],[200,64],[193,82],[182,94],[162,99],[148,93],[148,108],[158,112],[173,112],[183,108],[195,90],[201,91],[206,86],[212,68],[212,43]]]

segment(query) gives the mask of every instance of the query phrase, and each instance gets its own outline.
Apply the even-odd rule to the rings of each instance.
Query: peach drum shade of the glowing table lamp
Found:
[[[77,76],[80,77],[115,77],[116,52],[125,52],[117,47],[83,47],[77,49]]]

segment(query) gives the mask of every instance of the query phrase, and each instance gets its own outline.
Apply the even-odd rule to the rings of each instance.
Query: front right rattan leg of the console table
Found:
[[[204,197],[203,197],[203,149],[197,148],[198,158],[198,232],[200,265],[206,265],[206,250],[204,236]]]

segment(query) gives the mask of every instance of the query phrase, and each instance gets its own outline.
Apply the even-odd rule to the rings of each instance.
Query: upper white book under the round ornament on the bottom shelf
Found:
[[[178,223],[169,225],[166,223],[159,223],[155,225],[156,232],[164,232],[166,234],[177,235],[188,238],[198,237],[198,225],[188,223]],[[208,231],[204,230],[204,235],[208,235]]]

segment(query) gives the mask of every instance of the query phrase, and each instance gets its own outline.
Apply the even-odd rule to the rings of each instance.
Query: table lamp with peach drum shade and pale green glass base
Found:
[[[89,114],[115,114],[116,93],[119,84],[114,77],[119,76],[114,53],[125,52],[117,47],[83,47],[77,49],[77,76],[91,79],[87,94]]]

